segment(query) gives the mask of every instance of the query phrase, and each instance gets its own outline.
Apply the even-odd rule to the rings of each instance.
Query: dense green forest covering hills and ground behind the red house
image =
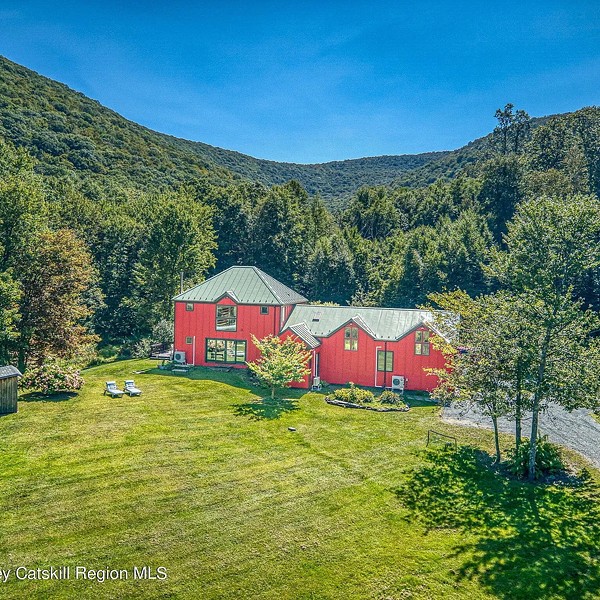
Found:
[[[152,132],[2,59],[0,363],[168,339],[181,273],[234,264],[339,304],[494,291],[520,204],[600,194],[600,109],[496,117],[454,152],[282,165]],[[600,307],[598,268],[575,285]]]

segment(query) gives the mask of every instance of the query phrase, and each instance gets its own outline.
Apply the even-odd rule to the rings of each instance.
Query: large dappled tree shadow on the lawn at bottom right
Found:
[[[492,471],[488,455],[466,447],[427,459],[396,494],[426,529],[468,536],[456,548],[458,579],[506,600],[600,597],[600,493],[589,477],[530,485]]]

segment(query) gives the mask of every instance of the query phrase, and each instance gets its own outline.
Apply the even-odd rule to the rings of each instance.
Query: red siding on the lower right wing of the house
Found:
[[[425,328],[421,328],[425,330]],[[321,379],[328,383],[375,385],[377,349],[385,350],[386,343],[374,340],[358,329],[358,350],[344,350],[344,328],[329,338],[321,339]],[[403,375],[407,390],[431,391],[437,385],[437,377],[427,375],[424,368],[443,368],[445,361],[441,352],[430,346],[429,356],[416,356],[415,333],[397,342],[387,342],[387,351],[394,353],[394,368],[385,374],[385,385],[390,385],[392,375]],[[377,385],[384,385],[384,373],[377,372]]]

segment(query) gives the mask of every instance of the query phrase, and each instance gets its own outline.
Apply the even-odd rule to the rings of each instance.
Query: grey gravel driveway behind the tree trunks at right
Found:
[[[492,420],[489,417],[459,403],[445,407],[442,410],[442,420],[446,423],[492,429]],[[524,436],[528,436],[530,427],[531,417],[523,419]],[[500,431],[514,435],[514,420],[501,418],[498,420],[498,428]],[[594,466],[600,468],[600,423],[594,420],[588,410],[580,408],[567,412],[560,406],[552,404],[544,414],[540,415],[540,433],[547,435],[552,442],[579,452]]]

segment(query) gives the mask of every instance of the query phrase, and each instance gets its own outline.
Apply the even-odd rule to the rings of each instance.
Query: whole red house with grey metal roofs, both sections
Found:
[[[243,368],[259,357],[251,335],[292,336],[312,352],[311,376],[367,387],[392,387],[404,378],[408,390],[431,391],[443,368],[430,343],[430,313],[423,310],[322,306],[256,267],[231,267],[176,296],[175,349],[191,365]]]

